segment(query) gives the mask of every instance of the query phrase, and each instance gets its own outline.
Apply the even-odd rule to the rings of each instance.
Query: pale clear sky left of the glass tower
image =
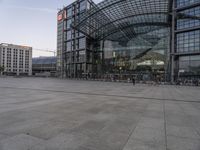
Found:
[[[57,11],[74,1],[0,0],[0,43],[31,46],[33,57],[52,56],[36,49],[56,50]]]

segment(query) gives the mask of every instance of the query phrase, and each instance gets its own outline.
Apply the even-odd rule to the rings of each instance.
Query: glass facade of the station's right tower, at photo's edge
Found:
[[[200,1],[177,0],[176,8],[175,78],[200,78]]]

